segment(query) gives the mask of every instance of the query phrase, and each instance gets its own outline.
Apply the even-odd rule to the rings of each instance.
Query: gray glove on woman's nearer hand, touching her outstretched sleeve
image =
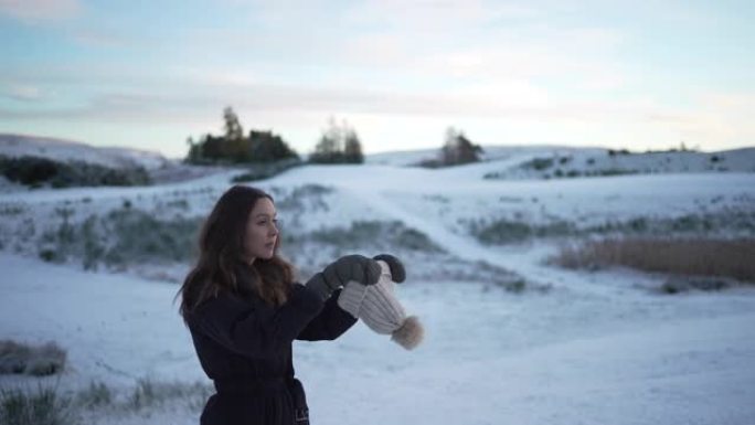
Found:
[[[322,272],[307,281],[307,287],[316,291],[322,300],[333,290],[354,280],[362,285],[374,285],[380,279],[381,268],[376,261],[363,255],[347,255],[329,264]]]

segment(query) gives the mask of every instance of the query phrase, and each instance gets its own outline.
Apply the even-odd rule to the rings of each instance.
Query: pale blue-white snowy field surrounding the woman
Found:
[[[413,262],[398,296],[426,328],[415,351],[361,323],[333,342],[295,343],[312,423],[755,424],[755,287],[663,295],[657,290],[663,276],[565,270],[543,263],[555,251],[551,240],[485,245],[468,227],[474,220],[589,226],[701,211],[752,214],[755,174],[482,178],[507,161],[501,153],[480,164],[424,170],[396,167],[401,161],[385,157],[366,166],[297,168],[256,183],[280,200],[288,230],[397,221],[443,249],[406,256]],[[0,195],[0,210],[14,211],[0,223],[0,339],[52,340],[68,355],[59,376],[0,375],[0,387],[34,389],[42,382],[75,394],[102,382],[117,400],[128,400],[145,380],[187,387],[199,382],[206,391],[173,302],[173,279],[45,263],[17,231],[32,222],[42,232],[62,205],[76,205],[72,220],[84,220],[126,200],[147,209],[181,198],[182,214],[200,216],[228,178]],[[293,193],[312,183],[328,191],[305,196],[297,209],[286,206]],[[322,257],[310,267],[337,253],[318,252]],[[447,261],[458,261],[472,277],[433,273]],[[522,276],[527,289],[512,293],[475,278],[477,262]],[[173,265],[166,276],[180,276],[185,267]],[[79,422],[193,424],[204,396],[199,391],[140,408],[115,403],[117,408],[83,410]]]

